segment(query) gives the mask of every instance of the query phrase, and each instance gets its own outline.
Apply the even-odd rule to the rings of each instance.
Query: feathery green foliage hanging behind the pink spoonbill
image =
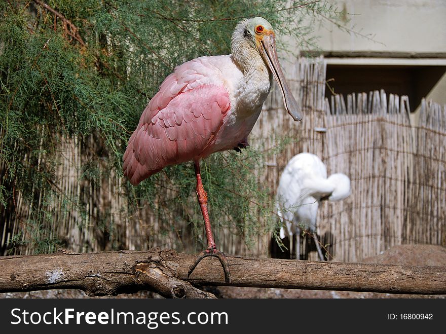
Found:
[[[76,138],[85,143],[95,138],[98,149],[83,144],[89,159],[82,162],[78,182],[99,187],[112,170],[122,176],[126,142],[148,100],[176,65],[201,55],[229,53],[231,33],[241,18],[266,17],[278,35],[308,43],[309,27],[303,20],[333,12],[324,1],[302,0],[207,0],[187,6],[183,1],[159,0],[47,4],[57,12],[40,1],[0,4],[0,209],[4,217],[20,216],[13,200],[20,192],[30,212],[25,220],[19,217],[30,232],[14,232],[7,226],[13,236],[9,245],[2,245],[3,251],[26,242],[33,243],[34,252],[54,250],[60,240],[48,227],[61,224],[73,210],[81,217],[79,228],[87,224],[89,213],[82,199],[66,197],[56,186],[56,178],[62,177],[55,163],[61,141]],[[247,242],[266,232],[259,231],[259,217],[267,221],[267,230],[273,224],[270,190],[252,172],[261,161],[262,154],[249,149],[241,156],[213,155],[202,166],[211,218],[236,227],[234,232]],[[166,198],[163,207],[155,197],[165,187],[178,196]],[[196,203],[191,205],[194,190],[190,164],[168,167],[139,187],[128,187],[129,203],[134,205],[129,210],[148,202],[170,228],[177,218],[171,215],[177,214],[198,235],[202,220]],[[54,221],[51,199],[57,196],[65,211]],[[169,205],[178,210],[167,210]],[[116,223],[103,221],[98,229],[113,235],[118,233]],[[2,224],[7,220],[0,222],[4,230]]]

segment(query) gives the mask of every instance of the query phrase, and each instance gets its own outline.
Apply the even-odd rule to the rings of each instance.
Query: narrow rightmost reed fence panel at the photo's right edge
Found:
[[[446,245],[446,105],[421,103],[414,179],[403,231],[407,243]]]

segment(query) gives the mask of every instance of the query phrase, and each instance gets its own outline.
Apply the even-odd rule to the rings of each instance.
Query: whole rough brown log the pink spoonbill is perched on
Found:
[[[188,278],[195,255],[171,249],[0,257],[0,292],[75,288],[89,295],[153,290],[167,297],[212,298],[194,285],[231,285],[384,293],[446,294],[446,267],[309,262],[227,256],[225,284],[208,257]],[[190,283],[188,283],[190,282]]]

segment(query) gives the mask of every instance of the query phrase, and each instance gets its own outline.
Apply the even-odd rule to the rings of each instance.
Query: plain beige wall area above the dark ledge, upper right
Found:
[[[326,51],[446,53],[446,0],[344,0],[339,10],[353,15],[344,25],[364,36],[341,31],[332,23],[315,29]]]

